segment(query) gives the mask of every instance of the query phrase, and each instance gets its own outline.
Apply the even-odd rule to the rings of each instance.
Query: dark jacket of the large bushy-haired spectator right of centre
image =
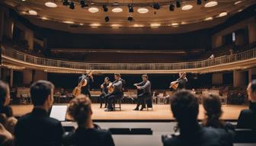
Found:
[[[232,138],[223,129],[199,127],[191,135],[170,135],[162,138],[164,146],[232,146]]]

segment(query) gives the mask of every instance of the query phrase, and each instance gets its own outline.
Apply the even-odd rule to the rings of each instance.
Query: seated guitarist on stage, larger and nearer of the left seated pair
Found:
[[[114,92],[111,94],[108,94],[106,96],[107,98],[107,109],[105,110],[105,112],[110,112],[110,111],[114,111],[114,101],[118,98],[122,98],[123,97],[123,91],[122,91],[122,87],[123,87],[123,83],[121,80],[121,75],[120,74],[115,74],[114,75],[115,81],[110,84],[108,86],[109,87],[114,87]]]

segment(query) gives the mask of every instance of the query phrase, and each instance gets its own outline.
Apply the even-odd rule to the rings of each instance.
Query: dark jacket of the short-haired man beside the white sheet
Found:
[[[61,145],[63,129],[61,123],[50,118],[45,110],[33,109],[21,116],[15,127],[15,146]]]

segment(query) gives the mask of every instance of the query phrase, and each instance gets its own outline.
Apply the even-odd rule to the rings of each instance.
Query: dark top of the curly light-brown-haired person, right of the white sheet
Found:
[[[114,146],[114,141],[107,130],[78,127],[75,133],[70,133],[64,138],[63,144],[74,146]]]

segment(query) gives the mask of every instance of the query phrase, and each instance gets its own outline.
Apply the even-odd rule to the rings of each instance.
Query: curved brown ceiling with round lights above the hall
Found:
[[[3,0],[0,3],[14,9],[22,17],[39,27],[46,27],[54,30],[63,30],[71,33],[184,33],[193,30],[200,30],[222,24],[226,19],[251,5],[256,4],[255,0],[243,0],[235,4],[238,0],[219,0],[218,5],[206,8],[204,5],[208,1],[202,0],[201,5],[197,5],[197,0],[181,0],[181,8],[184,5],[192,5],[193,8],[187,11],[181,8],[174,8],[169,11],[169,5],[176,5],[174,0],[98,0],[88,1],[89,7],[81,8],[79,1],[74,0],[75,9],[62,5],[62,1],[52,0],[56,8],[46,7],[48,0]],[[70,2],[70,1],[69,1]],[[113,5],[118,2],[119,5]],[[152,8],[153,2],[159,2],[161,8]],[[93,4],[91,4],[93,3]],[[134,12],[128,11],[127,5],[133,3]],[[104,12],[102,5],[107,5],[108,11]],[[96,7],[96,13],[91,13],[88,8]],[[115,7],[123,8],[120,13],[111,10]],[[140,14],[138,8],[148,8],[149,12]],[[37,11],[37,15],[31,15],[28,11]],[[228,14],[219,17],[222,12]],[[110,21],[105,22],[104,17],[108,16]],[[127,21],[127,17],[133,17],[132,22]],[[211,21],[205,21],[206,17],[213,17]],[[66,24],[71,22],[73,24]],[[177,23],[177,24],[175,24]],[[174,25],[175,24],[175,25]]]

